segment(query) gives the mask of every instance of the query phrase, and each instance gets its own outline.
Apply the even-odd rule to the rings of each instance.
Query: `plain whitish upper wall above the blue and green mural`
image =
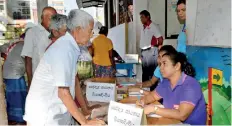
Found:
[[[232,47],[231,0],[188,0],[186,8],[188,44]]]

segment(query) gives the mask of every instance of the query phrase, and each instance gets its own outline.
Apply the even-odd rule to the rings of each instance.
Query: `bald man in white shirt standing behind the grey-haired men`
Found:
[[[46,48],[51,43],[49,36],[49,25],[51,17],[56,14],[52,7],[45,7],[42,12],[42,23],[31,28],[25,37],[21,56],[25,58],[25,68],[28,78],[28,89],[40,58],[43,56]]]

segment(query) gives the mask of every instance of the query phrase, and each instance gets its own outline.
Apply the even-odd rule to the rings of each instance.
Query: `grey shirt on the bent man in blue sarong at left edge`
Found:
[[[16,41],[18,42],[18,41]],[[25,62],[20,56],[23,41],[13,44],[10,51],[7,52],[6,61],[3,64],[3,78],[4,79],[19,79],[25,74]]]

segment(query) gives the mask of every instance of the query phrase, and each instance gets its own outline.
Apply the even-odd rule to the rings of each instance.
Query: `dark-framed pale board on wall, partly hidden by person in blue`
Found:
[[[176,4],[178,0],[165,0],[165,38],[176,39],[183,25],[180,24]]]

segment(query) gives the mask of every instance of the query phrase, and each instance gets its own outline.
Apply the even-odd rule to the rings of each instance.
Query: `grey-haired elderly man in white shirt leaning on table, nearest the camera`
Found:
[[[24,116],[29,125],[71,125],[72,116],[81,125],[104,124],[98,119],[87,120],[74,102],[79,45],[88,43],[93,21],[82,10],[69,13],[68,32],[49,47],[34,73]]]

